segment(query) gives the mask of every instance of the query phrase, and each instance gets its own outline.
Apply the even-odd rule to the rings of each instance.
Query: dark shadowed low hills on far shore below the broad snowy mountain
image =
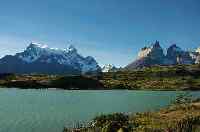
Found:
[[[9,75],[0,79],[6,88],[61,88],[61,89],[102,89],[103,85],[94,77],[60,75]]]

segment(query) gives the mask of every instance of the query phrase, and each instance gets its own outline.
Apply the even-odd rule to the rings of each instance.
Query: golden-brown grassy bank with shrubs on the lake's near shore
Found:
[[[182,100],[180,102],[180,100]],[[64,132],[199,132],[200,101],[185,97],[158,112],[114,113],[95,117],[87,127],[65,128]]]

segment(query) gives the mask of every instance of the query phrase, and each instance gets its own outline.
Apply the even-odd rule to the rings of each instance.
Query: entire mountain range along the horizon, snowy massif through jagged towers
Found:
[[[186,51],[172,44],[164,53],[159,41],[142,48],[136,60],[120,69],[110,64],[101,68],[93,57],[83,57],[72,45],[66,49],[57,49],[31,43],[23,52],[1,58],[0,73],[80,75],[116,72],[122,69],[141,69],[155,65],[197,63],[200,63],[200,48],[195,51]]]

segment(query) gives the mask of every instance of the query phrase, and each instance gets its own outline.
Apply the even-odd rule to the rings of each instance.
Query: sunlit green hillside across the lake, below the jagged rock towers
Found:
[[[200,90],[200,66],[154,66],[105,73],[101,82],[108,89]]]

